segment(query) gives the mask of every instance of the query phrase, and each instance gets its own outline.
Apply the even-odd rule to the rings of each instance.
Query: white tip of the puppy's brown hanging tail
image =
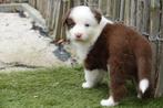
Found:
[[[140,89],[141,91],[144,94],[145,90],[149,88],[149,79],[146,78],[143,78],[141,82],[140,82]]]

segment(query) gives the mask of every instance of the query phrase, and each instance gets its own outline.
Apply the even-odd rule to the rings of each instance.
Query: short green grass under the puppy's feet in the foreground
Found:
[[[0,74],[0,108],[105,108],[104,82],[95,88],[83,89],[81,67],[58,67],[34,72]],[[129,86],[128,96],[114,108],[162,108],[163,98],[140,100]]]

